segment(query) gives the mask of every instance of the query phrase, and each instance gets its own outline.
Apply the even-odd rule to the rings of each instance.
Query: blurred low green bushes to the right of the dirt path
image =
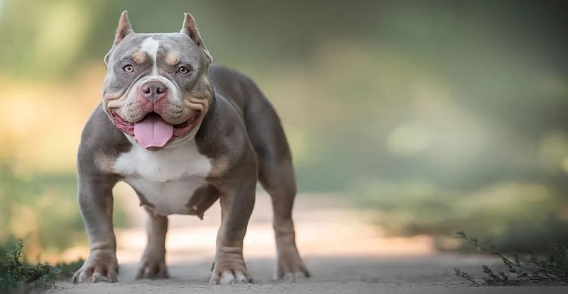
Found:
[[[459,230],[508,253],[547,253],[546,244],[568,244],[567,199],[541,185],[512,182],[463,191],[423,181],[361,181],[349,195],[389,234],[429,234],[442,250],[471,251],[447,237]]]

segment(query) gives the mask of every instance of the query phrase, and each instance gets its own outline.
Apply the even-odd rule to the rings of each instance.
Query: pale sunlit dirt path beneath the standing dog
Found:
[[[209,286],[209,268],[219,224],[217,206],[197,217],[170,217],[167,281],[135,281],[143,246],[144,215],[128,198],[134,227],[117,233],[121,275],[116,284],[58,283],[53,293],[535,293],[535,288],[473,288],[453,268],[479,273],[491,259],[435,254],[426,237],[386,238],[366,215],[323,196],[299,196],[295,210],[297,243],[313,277],[299,283],[272,281],[274,241],[268,196],[259,193],[245,239],[245,258],[255,284]],[[565,293],[566,288],[539,288]]]

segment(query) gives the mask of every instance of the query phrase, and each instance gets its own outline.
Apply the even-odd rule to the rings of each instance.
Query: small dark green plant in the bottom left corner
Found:
[[[82,265],[83,261],[72,264],[31,265],[21,257],[23,240],[7,242],[0,247],[0,293],[33,293],[53,288],[54,281],[68,278]]]

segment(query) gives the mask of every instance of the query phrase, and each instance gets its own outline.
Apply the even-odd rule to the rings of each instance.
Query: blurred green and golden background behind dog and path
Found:
[[[444,251],[459,230],[506,251],[568,242],[564,1],[0,0],[0,240],[30,256],[87,242],[75,154],[125,9],[144,33],[192,13],[214,61],[261,86],[302,199]]]

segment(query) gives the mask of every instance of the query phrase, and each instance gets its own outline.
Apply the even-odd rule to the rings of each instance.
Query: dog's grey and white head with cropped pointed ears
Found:
[[[104,60],[104,111],[126,137],[156,150],[195,135],[212,100],[212,58],[190,14],[180,33],[143,34],[124,11]]]

